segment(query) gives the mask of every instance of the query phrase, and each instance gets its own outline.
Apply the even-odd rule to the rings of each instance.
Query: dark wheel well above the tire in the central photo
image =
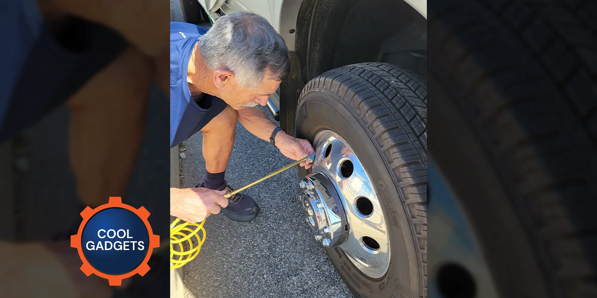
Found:
[[[407,2],[303,0],[296,24],[295,51],[304,82],[359,62],[425,72],[427,21]]]

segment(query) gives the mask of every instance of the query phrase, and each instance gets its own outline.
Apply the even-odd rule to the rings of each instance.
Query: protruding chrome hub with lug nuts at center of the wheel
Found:
[[[343,243],[347,236],[346,215],[330,180],[322,173],[313,173],[301,181],[300,187],[305,188],[299,200],[315,240],[324,247]]]

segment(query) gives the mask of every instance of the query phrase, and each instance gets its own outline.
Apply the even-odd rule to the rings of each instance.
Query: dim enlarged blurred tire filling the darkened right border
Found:
[[[430,155],[499,296],[595,297],[595,1],[434,4]]]

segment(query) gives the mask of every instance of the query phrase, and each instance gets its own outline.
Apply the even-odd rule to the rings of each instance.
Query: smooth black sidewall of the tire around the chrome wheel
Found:
[[[390,266],[386,275],[367,277],[347,259],[338,247],[326,249],[328,257],[355,296],[419,297],[420,272],[418,254],[407,219],[404,194],[390,175],[386,162],[374,145],[364,125],[337,98],[324,89],[313,89],[304,94],[297,107],[296,136],[309,141],[329,129],[342,136],[358,157],[374,185],[384,213],[390,239]]]

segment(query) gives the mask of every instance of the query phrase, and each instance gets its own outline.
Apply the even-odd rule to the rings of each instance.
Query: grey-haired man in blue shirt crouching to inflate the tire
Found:
[[[306,139],[281,131],[256,105],[266,105],[289,72],[284,40],[267,20],[241,12],[224,15],[208,31],[170,23],[170,146],[198,131],[203,134],[207,173],[196,188],[170,189],[170,214],[201,222],[222,212],[233,221],[250,221],[259,207],[247,194],[226,200],[232,191],[224,172],[232,153],[236,121],[284,156],[299,160],[313,153]],[[310,163],[301,166],[309,168]]]

